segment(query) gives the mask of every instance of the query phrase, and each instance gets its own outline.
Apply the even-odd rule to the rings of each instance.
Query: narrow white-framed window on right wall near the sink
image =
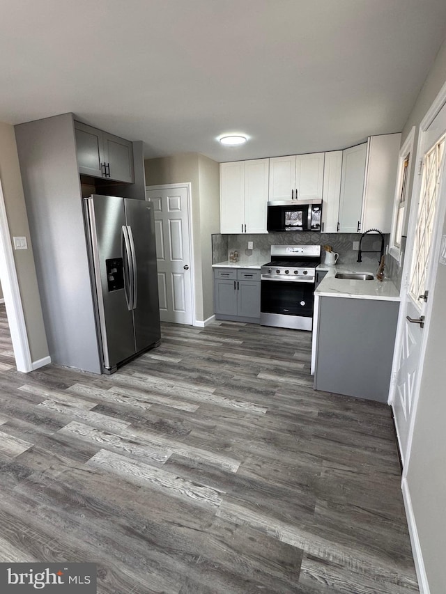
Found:
[[[413,139],[415,127],[410,131],[406,141],[399,152],[399,166],[397,187],[395,191],[394,212],[392,219],[392,233],[390,234],[390,255],[401,263],[401,237],[403,236],[404,223],[406,221],[406,204],[409,191],[409,175],[411,154],[413,150]]]

